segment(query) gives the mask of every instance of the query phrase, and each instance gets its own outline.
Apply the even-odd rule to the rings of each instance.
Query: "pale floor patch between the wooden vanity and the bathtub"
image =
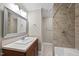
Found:
[[[39,56],[53,56],[52,43],[43,43],[42,44],[42,51],[39,51]]]

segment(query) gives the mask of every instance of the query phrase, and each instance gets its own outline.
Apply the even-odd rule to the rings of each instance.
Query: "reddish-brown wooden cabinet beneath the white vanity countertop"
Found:
[[[27,49],[26,52],[3,49],[3,56],[37,56],[38,39]]]

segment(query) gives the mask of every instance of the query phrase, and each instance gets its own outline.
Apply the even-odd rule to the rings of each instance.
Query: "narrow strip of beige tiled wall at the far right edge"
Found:
[[[79,3],[75,4],[75,48],[79,49]]]

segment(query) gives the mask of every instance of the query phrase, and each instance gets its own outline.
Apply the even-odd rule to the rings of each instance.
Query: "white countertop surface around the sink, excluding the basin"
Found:
[[[16,44],[16,42],[19,42],[20,40],[4,45],[2,46],[3,49],[8,49],[8,50],[14,50],[14,51],[20,51],[20,52],[25,52],[27,49],[35,42],[37,38],[34,37],[33,40],[27,44]]]

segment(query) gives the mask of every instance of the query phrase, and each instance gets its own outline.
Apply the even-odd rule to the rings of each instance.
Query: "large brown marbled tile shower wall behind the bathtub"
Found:
[[[75,47],[75,4],[54,4],[53,44],[58,47]]]

